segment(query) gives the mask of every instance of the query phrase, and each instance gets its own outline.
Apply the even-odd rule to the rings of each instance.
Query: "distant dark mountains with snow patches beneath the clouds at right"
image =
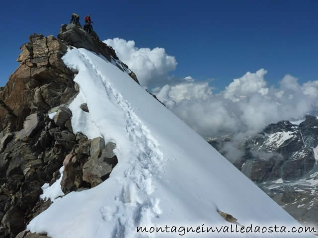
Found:
[[[231,135],[208,139],[227,157]],[[295,219],[318,224],[318,119],[298,124],[280,121],[239,145],[243,155],[234,165]]]

